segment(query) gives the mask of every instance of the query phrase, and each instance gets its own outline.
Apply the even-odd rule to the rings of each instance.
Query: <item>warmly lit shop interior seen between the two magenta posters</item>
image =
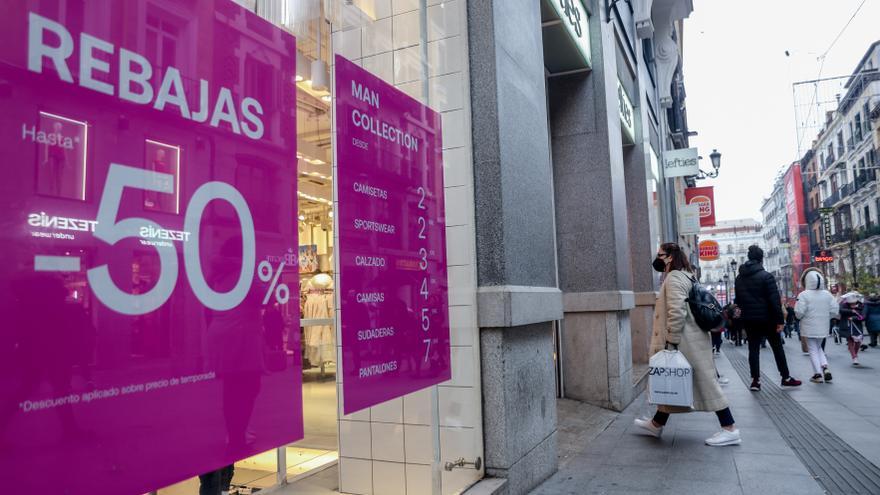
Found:
[[[237,462],[231,493],[259,493],[276,486],[281,472],[288,483],[293,483],[333,468],[339,457],[328,63],[330,24],[324,12],[296,14],[295,18],[300,21],[288,29],[297,37],[299,250],[288,253],[287,258],[296,257],[298,263],[287,263],[282,277],[289,287],[300,288],[300,297],[291,297],[277,309],[283,318],[281,339],[288,362],[294,361],[294,353],[301,353],[305,437],[281,449]],[[298,309],[292,306],[297,303]],[[299,326],[294,325],[297,311]],[[280,459],[286,462],[286,469],[278,469]],[[157,493],[191,495],[198,493],[198,486],[198,478],[192,478]]]

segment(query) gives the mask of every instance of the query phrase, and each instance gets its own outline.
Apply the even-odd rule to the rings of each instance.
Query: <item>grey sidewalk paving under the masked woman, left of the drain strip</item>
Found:
[[[712,413],[673,415],[662,439],[640,435],[633,420],[654,411],[643,395],[533,494],[823,494],[727,358],[716,362],[742,445],[703,443],[719,428]]]

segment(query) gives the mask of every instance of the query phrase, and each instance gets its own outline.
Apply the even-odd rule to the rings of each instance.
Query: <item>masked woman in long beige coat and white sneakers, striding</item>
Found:
[[[742,437],[733,421],[727,398],[716,381],[715,362],[712,359],[711,338],[697,326],[688,307],[688,292],[696,281],[693,268],[678,244],[660,246],[654,269],[666,274],[657,303],[654,306],[654,332],[651,337],[651,355],[667,346],[684,354],[694,377],[694,407],[658,406],[653,419],[636,419],[635,425],[654,437],[660,437],[663,426],[674,412],[712,411],[718,416],[721,431],[706,439],[706,444],[721,447],[742,443]]]

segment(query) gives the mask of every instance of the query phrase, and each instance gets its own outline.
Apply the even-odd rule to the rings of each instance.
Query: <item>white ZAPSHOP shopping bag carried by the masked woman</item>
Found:
[[[679,351],[663,350],[648,362],[648,402],[694,406],[694,370]]]

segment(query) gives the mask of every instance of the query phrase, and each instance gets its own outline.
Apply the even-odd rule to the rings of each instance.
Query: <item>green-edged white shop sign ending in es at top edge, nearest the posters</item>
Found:
[[[544,65],[551,74],[589,69],[590,16],[581,0],[542,0]]]

